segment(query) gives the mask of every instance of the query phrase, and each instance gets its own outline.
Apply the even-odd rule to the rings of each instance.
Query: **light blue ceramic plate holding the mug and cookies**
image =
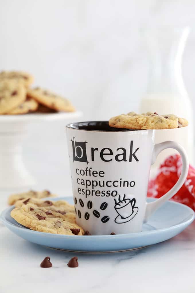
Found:
[[[73,204],[72,197],[51,198],[63,199]],[[48,198],[47,198],[48,200]],[[151,202],[154,199],[148,198]],[[51,248],[74,252],[117,252],[140,248],[159,243],[183,231],[194,220],[194,211],[177,202],[168,201],[160,207],[143,225],[140,233],[101,235],[101,236],[69,236],[37,232],[18,224],[10,217],[13,206],[8,207],[1,214],[4,225],[21,238]]]

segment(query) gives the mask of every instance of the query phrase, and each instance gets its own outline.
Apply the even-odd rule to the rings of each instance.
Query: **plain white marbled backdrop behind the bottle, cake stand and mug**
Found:
[[[1,0],[0,69],[32,73],[34,85],[70,98],[83,111],[81,120],[107,120],[138,110],[146,91],[140,28],[190,25],[183,75],[195,107],[194,13],[190,0]],[[25,161],[40,187],[54,192],[70,190],[65,124],[33,126],[24,144]]]

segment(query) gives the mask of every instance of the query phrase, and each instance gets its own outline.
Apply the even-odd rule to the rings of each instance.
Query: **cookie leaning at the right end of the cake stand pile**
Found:
[[[75,108],[68,99],[56,95],[55,93],[42,88],[27,90],[27,96],[34,98],[39,103],[56,111],[73,112]]]

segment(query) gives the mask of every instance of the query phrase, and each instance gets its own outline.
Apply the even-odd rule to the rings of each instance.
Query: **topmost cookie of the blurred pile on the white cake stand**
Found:
[[[25,87],[30,86],[33,82],[33,77],[31,74],[28,74],[23,71],[1,71],[0,80],[10,79],[20,81],[24,84]]]

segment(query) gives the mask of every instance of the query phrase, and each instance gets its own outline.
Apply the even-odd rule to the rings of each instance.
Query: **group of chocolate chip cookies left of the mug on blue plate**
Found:
[[[11,195],[9,204],[15,204],[11,217],[19,224],[35,231],[64,234],[83,235],[82,227],[76,224],[76,214],[73,205],[65,200],[42,200],[43,197],[55,195],[44,190],[42,192],[29,191]]]

